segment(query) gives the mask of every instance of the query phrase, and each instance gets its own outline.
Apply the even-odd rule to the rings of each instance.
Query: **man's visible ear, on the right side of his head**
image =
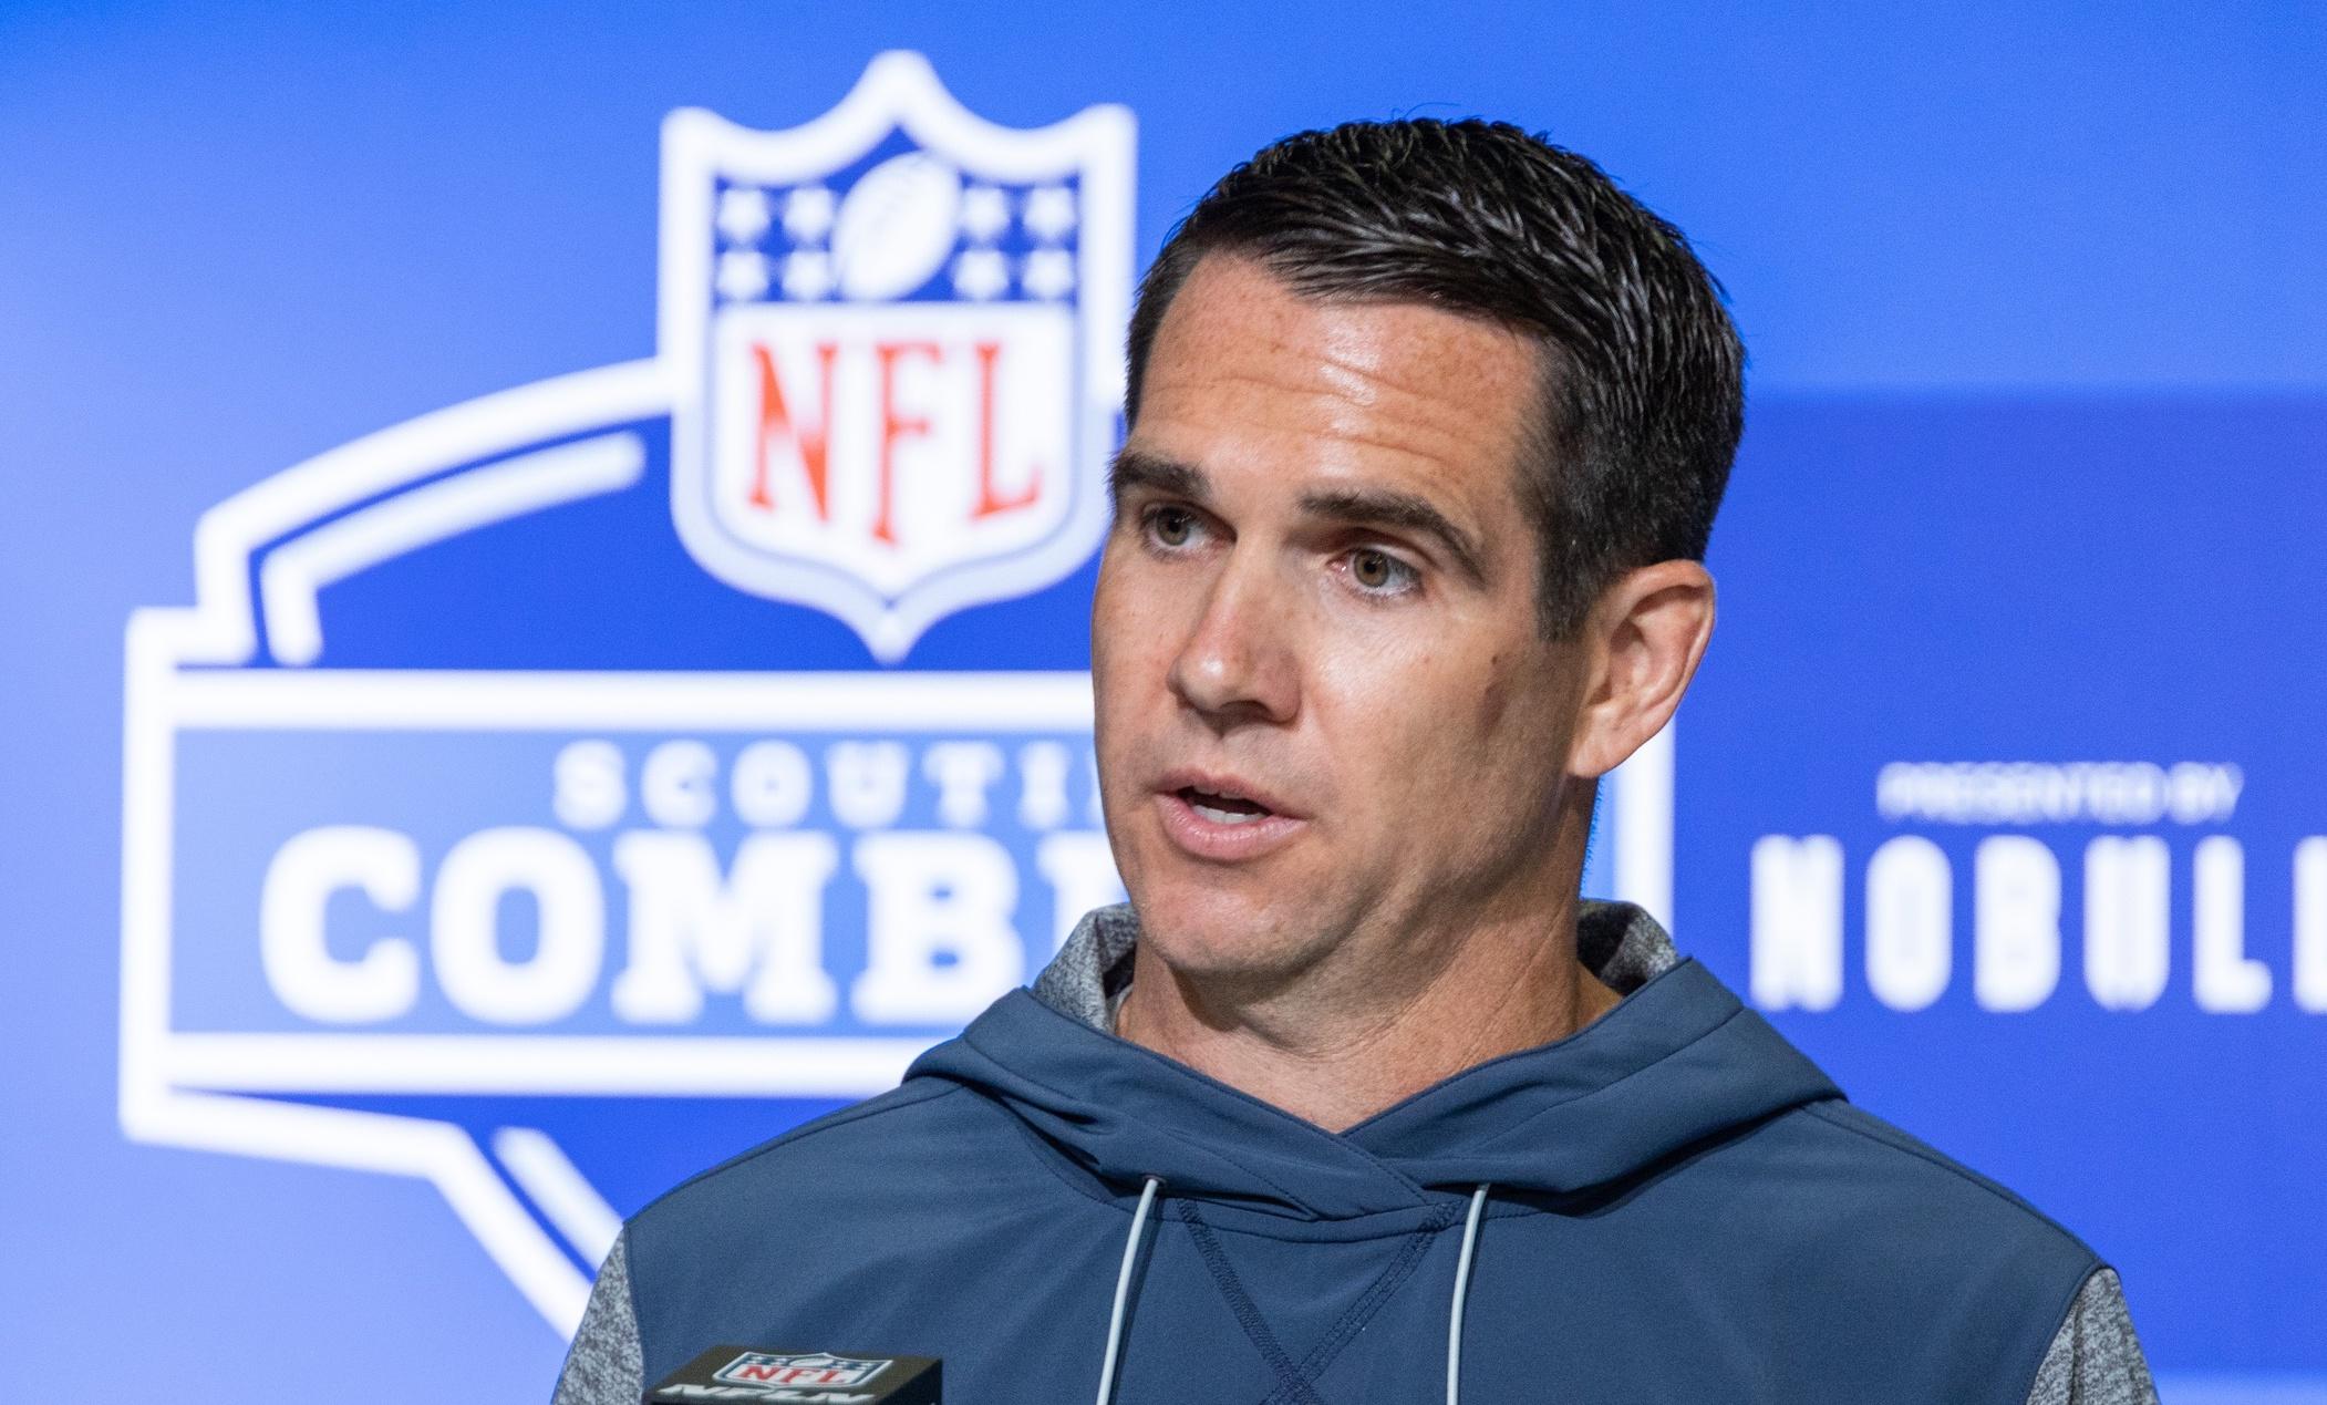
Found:
[[[1568,775],[1596,779],[1657,735],[1713,640],[1713,575],[1659,561],[1608,586],[1585,623],[1587,677]]]

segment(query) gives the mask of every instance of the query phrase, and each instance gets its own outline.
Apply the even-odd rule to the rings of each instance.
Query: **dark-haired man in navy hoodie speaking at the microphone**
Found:
[[[2090,1249],[1578,903],[1713,630],[1741,365],[1687,242],[1515,128],[1222,179],[1091,614],[1131,903],[638,1214],[558,1400],[717,1345],[970,1403],[2155,1398]]]

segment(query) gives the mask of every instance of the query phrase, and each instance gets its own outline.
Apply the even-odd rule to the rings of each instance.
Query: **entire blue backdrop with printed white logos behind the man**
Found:
[[[1752,351],[1722,623],[1594,882],[1668,870],[1685,951],[2118,1263],[2171,1405],[2327,1400],[2327,12],[1373,0],[0,5],[0,1393],[135,1345],[186,1400],[542,1398],[610,1210],[1103,898],[1070,505],[1052,565],[891,589],[938,600],[903,644],[673,530],[675,249],[828,237],[847,288],[852,193],[931,137],[712,161],[773,244],[670,223],[663,121],[798,128],[884,51],[1003,128],[1136,123],[945,151],[1010,214],[935,258],[1073,328],[1059,442],[1112,433],[1110,249],[1280,133],[1508,116],[1689,230]],[[803,1005],[626,996],[747,868]]]

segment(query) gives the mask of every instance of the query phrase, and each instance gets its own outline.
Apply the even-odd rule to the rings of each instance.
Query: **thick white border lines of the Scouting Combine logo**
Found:
[[[842,109],[856,105],[859,112],[877,112],[873,98],[887,102],[908,81],[924,81],[935,91],[926,60],[884,54]],[[868,88],[873,98],[859,102],[859,93]],[[942,98],[942,91],[935,93]],[[1119,133],[1126,135],[1129,126]],[[1129,200],[1129,188],[1124,198]],[[668,335],[663,344],[670,344]],[[673,414],[677,391],[696,388],[689,379],[693,370],[656,358],[554,377],[424,414],[286,468],[219,502],[195,523],[195,605],[137,609],[126,633],[123,1133],[151,1144],[428,1179],[526,1300],[565,1335],[582,1319],[589,1275],[528,1214],[510,1182],[524,1186],[542,1217],[589,1263],[612,1247],[619,1217],[551,1137],[533,1128],[500,1128],[489,1156],[454,1124],[279,1103],[263,1093],[863,1096],[894,1086],[921,1042],[668,1037],[647,1051],[642,1040],[533,1035],[177,1033],[170,1028],[177,737],[184,730],[254,726],[1089,726],[1084,672],[945,675],[940,707],[928,700],[933,689],[926,684],[933,675],[926,672],[540,677],[300,668],[321,656],[316,593],[330,582],[493,521],[638,484],[645,444],[621,428],[607,430]],[[1119,368],[1115,375],[1119,395]],[[447,472],[456,468],[463,472]],[[1049,579],[1054,577],[1022,589],[1031,591]],[[247,668],[258,656],[261,619],[268,651],[286,668]],[[1671,730],[1620,768],[1613,784],[1615,891],[1664,917],[1671,907]]]

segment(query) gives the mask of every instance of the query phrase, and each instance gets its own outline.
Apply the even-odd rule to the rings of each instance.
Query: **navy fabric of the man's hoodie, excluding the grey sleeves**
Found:
[[[1459,1277],[1468,1405],[2022,1405],[2092,1251],[1850,1107],[1703,965],[1594,951],[1594,919],[1664,942],[1627,912],[1585,923],[1617,1007],[1345,1133],[1115,1037],[1054,968],[626,1226],[645,1379],[763,1345],[1091,1400],[1129,1244],[1119,1405],[1445,1400]],[[1094,914],[1061,963],[1119,982],[1124,930]]]

